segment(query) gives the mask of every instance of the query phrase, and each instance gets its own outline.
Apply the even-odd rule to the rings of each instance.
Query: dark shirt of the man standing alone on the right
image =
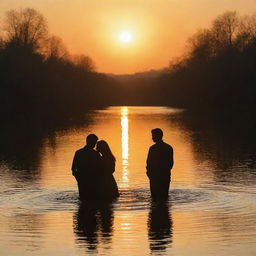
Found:
[[[170,177],[173,167],[173,148],[160,141],[149,148],[147,157],[147,175],[149,178]]]

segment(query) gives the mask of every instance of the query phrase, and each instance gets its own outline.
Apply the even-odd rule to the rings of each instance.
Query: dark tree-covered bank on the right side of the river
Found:
[[[151,81],[151,89],[172,106],[254,110],[255,67],[256,15],[227,11],[189,39],[187,54]]]

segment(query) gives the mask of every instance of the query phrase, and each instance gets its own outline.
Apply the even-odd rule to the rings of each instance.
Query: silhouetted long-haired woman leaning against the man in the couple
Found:
[[[113,176],[116,159],[112,154],[109,145],[104,140],[98,141],[97,151],[101,154],[102,195],[106,199],[114,199],[119,196],[117,184]]]

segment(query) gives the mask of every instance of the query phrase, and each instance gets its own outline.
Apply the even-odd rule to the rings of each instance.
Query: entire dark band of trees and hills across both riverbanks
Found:
[[[184,57],[163,70],[111,75],[96,72],[90,57],[69,54],[38,11],[10,10],[0,32],[0,114],[4,123],[47,126],[109,105],[253,113],[255,67],[256,14],[218,16],[188,40]]]

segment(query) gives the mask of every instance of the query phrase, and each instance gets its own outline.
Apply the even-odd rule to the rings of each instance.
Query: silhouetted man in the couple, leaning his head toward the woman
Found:
[[[89,134],[86,145],[77,150],[72,163],[72,174],[78,185],[80,200],[99,197],[100,186],[100,154],[94,150],[98,137]]]

